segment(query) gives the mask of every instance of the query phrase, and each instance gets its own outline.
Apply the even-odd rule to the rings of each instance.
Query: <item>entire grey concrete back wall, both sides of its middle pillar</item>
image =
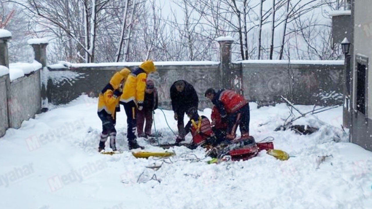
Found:
[[[233,71],[242,71],[241,79],[244,96],[259,105],[283,102],[280,95],[292,98],[292,83],[288,71],[294,74],[293,101],[302,105],[340,105],[341,73],[340,64],[232,64]],[[98,96],[110,77],[124,66],[78,67],[50,69],[48,72],[48,102],[60,105],[76,99],[82,93]],[[129,67],[132,70],[137,66]],[[169,88],[174,81],[184,79],[191,83],[199,96],[199,108],[211,107],[204,97],[209,87],[220,89],[221,77],[218,65],[157,65],[158,73],[150,75],[159,91],[160,107],[170,109]],[[64,78],[61,79],[62,75]],[[325,99],[324,99],[325,98]]]

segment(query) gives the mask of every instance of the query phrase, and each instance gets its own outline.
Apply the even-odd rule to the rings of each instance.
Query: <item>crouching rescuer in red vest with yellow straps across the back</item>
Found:
[[[190,120],[185,126],[185,136],[189,132],[192,135],[192,142],[189,148],[195,149],[198,146],[205,148],[209,145],[215,145],[216,138],[209,119],[205,116],[199,116],[196,107],[189,108],[186,114]],[[178,136],[177,138],[184,138],[185,136]]]

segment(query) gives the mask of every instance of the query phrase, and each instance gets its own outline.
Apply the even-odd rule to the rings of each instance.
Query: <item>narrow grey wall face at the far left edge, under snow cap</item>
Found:
[[[5,134],[8,123],[7,88],[9,88],[9,74],[0,77],[0,137]]]

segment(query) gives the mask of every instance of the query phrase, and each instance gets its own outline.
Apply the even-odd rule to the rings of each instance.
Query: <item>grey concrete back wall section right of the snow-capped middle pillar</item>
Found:
[[[244,96],[259,105],[282,102],[340,105],[344,65],[242,64]],[[293,80],[290,78],[293,76]]]

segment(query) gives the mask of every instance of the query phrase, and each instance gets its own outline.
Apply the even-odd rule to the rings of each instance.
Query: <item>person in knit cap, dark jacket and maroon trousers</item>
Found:
[[[145,99],[143,101],[143,109],[137,113],[137,133],[138,137],[151,137],[151,127],[153,126],[153,111],[158,108],[158,93],[154,86],[154,81],[146,81]],[[143,125],[146,121],[145,132]]]

